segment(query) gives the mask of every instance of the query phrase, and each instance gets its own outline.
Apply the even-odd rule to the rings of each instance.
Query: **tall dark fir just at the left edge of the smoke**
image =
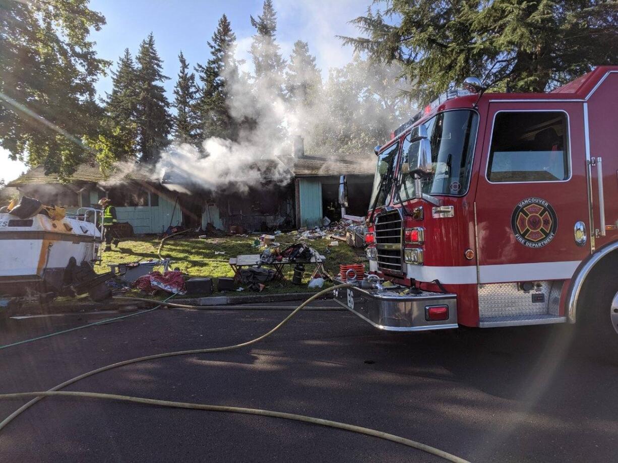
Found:
[[[239,63],[234,57],[236,35],[226,15],[219,19],[208,47],[211,57],[206,65],[195,66],[202,85],[195,104],[197,135],[201,140],[210,136],[235,140],[238,127],[230,112],[230,90],[238,83]]]

